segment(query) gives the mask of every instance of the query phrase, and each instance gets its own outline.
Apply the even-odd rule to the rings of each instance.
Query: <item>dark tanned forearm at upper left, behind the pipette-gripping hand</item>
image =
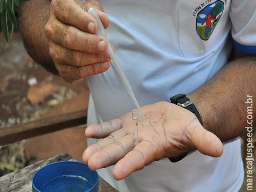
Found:
[[[21,0],[19,26],[28,54],[48,71],[58,74],[49,54],[49,43],[44,33],[50,5],[49,0]]]

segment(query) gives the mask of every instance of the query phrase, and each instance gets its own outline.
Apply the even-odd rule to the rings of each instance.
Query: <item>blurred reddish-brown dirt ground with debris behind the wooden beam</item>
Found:
[[[31,93],[38,84],[44,92]],[[0,34],[0,127],[86,109],[88,97],[86,80],[71,85],[53,76],[28,56],[17,32],[10,44]],[[81,161],[84,130],[85,126],[73,127],[0,146],[0,176],[61,152]],[[255,162],[253,166],[256,185]]]

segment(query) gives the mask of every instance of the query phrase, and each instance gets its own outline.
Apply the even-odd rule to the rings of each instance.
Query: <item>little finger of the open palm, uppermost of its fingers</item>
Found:
[[[87,138],[104,138],[108,137],[112,132],[121,129],[121,119],[113,119],[108,122],[103,122],[98,125],[89,125],[85,129],[85,136]]]

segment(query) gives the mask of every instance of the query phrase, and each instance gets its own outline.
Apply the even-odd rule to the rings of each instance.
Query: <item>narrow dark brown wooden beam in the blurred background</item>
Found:
[[[87,109],[0,128],[0,146],[86,124]]]

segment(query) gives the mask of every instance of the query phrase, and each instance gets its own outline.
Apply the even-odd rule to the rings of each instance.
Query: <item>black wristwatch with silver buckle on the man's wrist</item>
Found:
[[[188,99],[186,97],[185,94],[178,94],[178,95],[174,95],[170,98],[171,103],[176,104],[180,107],[183,107],[189,111],[191,111],[192,113],[194,113],[197,117],[197,119],[199,120],[199,122],[201,123],[201,125],[203,125],[203,121],[202,118],[196,108],[196,106],[194,105],[193,101]],[[179,156],[175,156],[175,157],[170,157],[168,158],[172,163],[178,162],[181,159],[183,159],[185,156],[187,156],[189,153],[191,153],[191,151],[188,151],[186,153],[183,153]]]

